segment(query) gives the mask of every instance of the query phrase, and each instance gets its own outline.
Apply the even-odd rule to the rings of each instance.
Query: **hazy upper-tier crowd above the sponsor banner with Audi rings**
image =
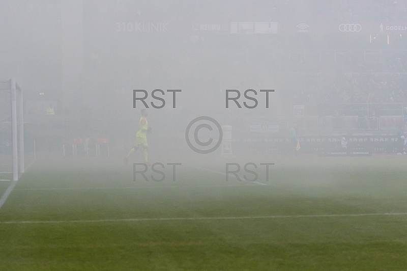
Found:
[[[171,5],[168,6],[171,8]],[[226,16],[230,19],[254,19],[260,15],[272,21],[295,21],[299,18],[320,21],[404,21],[407,16],[405,0],[186,1],[183,9],[210,10],[216,17]],[[197,11],[191,16],[199,14]]]

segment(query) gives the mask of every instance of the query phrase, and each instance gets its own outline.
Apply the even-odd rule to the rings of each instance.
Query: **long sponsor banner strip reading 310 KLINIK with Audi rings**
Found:
[[[105,24],[115,32],[179,34],[407,34],[407,22],[166,21],[123,19]]]

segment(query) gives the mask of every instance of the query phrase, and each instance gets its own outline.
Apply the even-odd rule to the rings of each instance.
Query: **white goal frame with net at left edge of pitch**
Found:
[[[15,79],[0,80],[0,180],[24,173],[22,91]]]

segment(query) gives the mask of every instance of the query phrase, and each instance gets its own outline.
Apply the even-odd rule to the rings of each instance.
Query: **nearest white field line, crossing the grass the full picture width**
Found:
[[[299,219],[299,218],[337,218],[356,216],[390,216],[407,215],[400,213],[354,213],[354,214],[300,214],[300,215],[263,215],[263,216],[218,216],[196,218],[151,218],[151,219],[100,219],[100,220],[54,220],[54,221],[3,221],[0,224],[65,224],[65,223],[100,223],[100,222],[143,222],[143,221],[185,221],[185,220],[250,220],[250,219]]]

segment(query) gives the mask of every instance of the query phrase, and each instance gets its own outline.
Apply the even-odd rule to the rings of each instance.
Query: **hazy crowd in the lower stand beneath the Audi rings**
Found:
[[[375,60],[361,60],[348,51],[330,62],[281,62],[276,64],[280,86],[299,104],[407,102],[407,53],[380,54]]]

